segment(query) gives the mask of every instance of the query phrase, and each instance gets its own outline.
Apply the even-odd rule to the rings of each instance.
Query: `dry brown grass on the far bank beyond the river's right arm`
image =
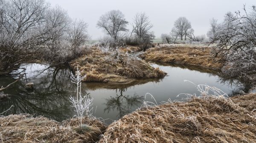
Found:
[[[141,55],[143,59],[190,64],[212,69],[221,69],[223,63],[212,60],[211,48],[206,45],[174,44],[150,48]]]

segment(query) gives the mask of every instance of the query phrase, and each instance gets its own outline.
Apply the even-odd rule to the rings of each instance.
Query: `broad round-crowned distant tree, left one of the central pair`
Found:
[[[115,40],[118,39],[119,32],[128,31],[126,28],[128,21],[125,20],[124,14],[119,10],[108,11],[103,14],[97,23],[98,28],[102,28],[109,36]]]

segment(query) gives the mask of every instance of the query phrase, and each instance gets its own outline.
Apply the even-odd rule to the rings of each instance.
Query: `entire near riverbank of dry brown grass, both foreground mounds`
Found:
[[[256,94],[201,96],[148,106],[108,127],[97,119],[62,123],[31,115],[0,117],[3,143],[253,143]],[[248,102],[250,101],[250,102]],[[107,129],[106,129],[107,128]],[[102,136],[103,134],[103,136]]]

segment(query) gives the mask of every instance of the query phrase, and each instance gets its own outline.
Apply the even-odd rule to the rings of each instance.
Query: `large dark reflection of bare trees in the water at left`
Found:
[[[25,90],[25,79],[17,83],[15,88],[6,90],[5,93],[9,94],[10,98],[0,103],[0,112],[14,105],[5,115],[29,113],[35,116],[44,115],[56,121],[74,115],[69,97],[75,93],[75,86],[69,80],[68,68],[45,66],[44,69],[34,70],[29,75],[28,81],[35,83],[34,90]]]

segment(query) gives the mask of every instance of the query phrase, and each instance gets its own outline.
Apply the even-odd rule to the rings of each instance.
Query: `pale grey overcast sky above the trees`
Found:
[[[81,19],[88,24],[88,34],[97,40],[105,33],[96,27],[102,14],[111,10],[120,10],[128,22],[138,12],[145,12],[154,25],[152,31],[156,38],[168,34],[179,17],[186,17],[195,30],[195,35],[207,33],[209,20],[218,22],[228,12],[242,10],[243,5],[249,9],[256,5],[256,0],[49,0],[51,6],[59,5],[66,9],[73,19]],[[131,29],[131,27],[128,27]]]

